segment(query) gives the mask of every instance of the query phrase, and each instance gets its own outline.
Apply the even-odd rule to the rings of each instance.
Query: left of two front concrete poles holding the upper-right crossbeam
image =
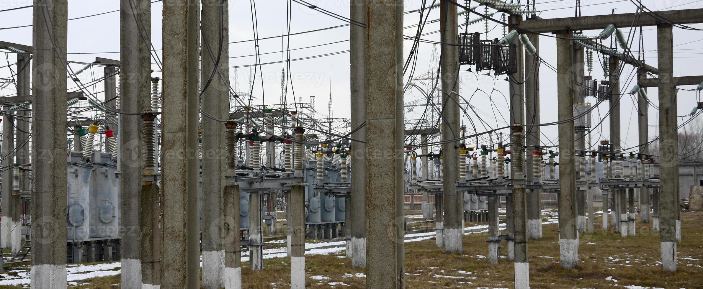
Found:
[[[559,37],[572,37],[571,32],[557,34]],[[559,120],[574,117],[574,71],[572,70],[572,41],[557,39],[557,97]],[[574,121],[559,124],[559,249],[564,269],[576,268],[579,260],[579,232],[576,231],[576,210],[574,194]]]

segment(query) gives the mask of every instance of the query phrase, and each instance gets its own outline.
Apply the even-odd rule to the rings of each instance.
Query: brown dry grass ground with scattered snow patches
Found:
[[[678,271],[665,273],[659,263],[659,235],[638,221],[638,235],[621,238],[614,231],[581,234],[579,268],[561,269],[556,224],[546,224],[541,240],[530,240],[532,288],[703,288],[703,213],[681,214],[682,240],[678,244]],[[468,225],[467,225],[468,226]],[[505,257],[491,265],[486,233],[464,237],[465,254],[447,254],[434,239],[406,243],[406,288],[512,288],[512,262]],[[503,247],[505,248],[505,247]],[[501,251],[504,253],[504,250]],[[288,288],[288,258],[265,259],[262,271],[243,263],[243,288]],[[342,255],[306,257],[307,288],[363,288],[363,269],[352,269]],[[119,288],[120,276],[92,278],[69,288]],[[0,288],[14,288],[1,287]]]

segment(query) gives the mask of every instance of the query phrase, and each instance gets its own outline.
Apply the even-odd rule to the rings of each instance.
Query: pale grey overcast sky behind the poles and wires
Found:
[[[77,18],[85,15],[91,15],[96,13],[104,13],[108,11],[114,11],[119,8],[119,1],[117,0],[105,0],[105,1],[90,1],[90,0],[69,0],[69,18]],[[653,11],[666,11],[671,9],[690,9],[690,8],[703,8],[703,1],[695,0],[673,0],[673,1],[662,1],[662,0],[643,0],[645,6]],[[344,17],[349,16],[349,0],[329,0],[329,1],[311,1],[318,7],[324,8],[328,11],[343,15]],[[427,1],[427,3],[432,3],[432,1]],[[522,3],[525,3],[523,0]],[[562,17],[573,17],[574,16],[574,5],[576,0],[566,0],[566,1],[550,1],[550,0],[538,0],[537,10],[541,11],[538,15],[541,18],[562,18]],[[20,6],[31,5],[32,1],[29,0],[2,0],[0,1],[0,10],[15,8]],[[257,23],[259,27],[259,37],[273,37],[282,34],[286,28],[286,1],[281,0],[258,0],[256,1],[257,8]],[[420,0],[410,0],[405,1],[404,11],[411,11],[413,9],[420,8],[423,5],[423,1]],[[475,6],[471,4],[470,6]],[[612,13],[612,9],[616,9],[615,13],[633,13],[636,12],[636,5],[633,4],[631,0],[581,0],[581,13],[582,15],[601,15]],[[253,39],[252,31],[252,15],[250,11],[249,1],[233,1],[229,0],[229,41],[244,41],[236,44],[230,44],[230,59],[229,65],[232,68],[230,70],[231,82],[235,84],[235,75],[238,78],[238,91],[248,91],[250,89],[251,72],[250,67],[247,65],[252,65],[254,63],[254,58],[250,55],[254,53],[254,42],[245,41]],[[161,2],[156,2],[152,4],[152,39],[153,45],[156,49],[161,48]],[[478,11],[483,12],[483,7],[479,8]],[[413,25],[418,23],[418,13],[409,13],[406,15],[404,21],[404,26]],[[494,18],[500,18],[501,14],[497,13]],[[430,12],[428,20],[435,20],[439,18],[439,9],[433,9]],[[470,19],[477,18],[476,15],[470,15]],[[31,27],[20,27],[14,29],[2,29],[4,27],[16,27],[21,25],[31,25],[32,24],[32,8],[25,8],[14,11],[0,12],[0,40],[27,44],[31,45],[32,42],[32,28]],[[217,19],[204,19],[203,21],[217,21]],[[460,23],[463,22],[463,17],[460,17]],[[307,6],[302,6],[295,2],[292,2],[292,15],[291,15],[291,27],[290,31],[292,33],[302,32],[307,30],[316,30],[325,27],[333,27],[336,25],[345,24],[344,21],[338,20],[314,11]],[[703,28],[703,25],[690,25],[691,27]],[[119,13],[106,13],[103,15],[97,15],[94,17],[83,18],[79,20],[70,20],[68,22],[68,52],[69,53],[88,53],[88,54],[70,54],[68,60],[79,61],[79,62],[92,62],[95,57],[113,58],[119,59],[119,53],[109,53],[117,52],[120,49],[120,18]],[[405,34],[415,34],[415,27],[408,28],[405,30]],[[657,41],[656,41],[656,29],[655,27],[644,27],[643,41],[645,49],[645,61],[657,67]],[[439,22],[430,23],[425,25],[423,33],[434,32],[439,30]],[[500,38],[503,36],[503,29],[500,26],[496,26],[495,23],[489,23],[489,38]],[[626,36],[630,32],[628,27],[621,27],[621,30],[625,32]],[[480,21],[475,25],[470,25],[468,32],[484,32],[484,22]],[[600,30],[586,31],[584,34],[595,35]],[[482,35],[482,37],[485,37]],[[439,33],[427,34],[422,37],[430,41],[439,41]],[[317,109],[323,115],[326,114],[327,110],[327,100],[328,95],[332,94],[333,97],[333,110],[335,117],[349,117],[349,53],[337,53],[340,51],[347,51],[349,49],[349,27],[340,27],[330,30],[323,30],[319,32],[311,32],[307,34],[294,35],[288,38],[277,37],[273,39],[266,39],[259,41],[259,48],[261,53],[262,63],[276,62],[280,61],[285,56],[282,53],[269,53],[281,51],[282,40],[290,40],[290,48],[297,49],[307,46],[317,46],[319,44],[328,44],[323,46],[317,46],[308,49],[297,49],[290,52],[290,58],[306,58],[309,56],[318,56],[326,53],[335,53],[330,56],[323,56],[319,58],[311,58],[307,60],[296,60],[290,63],[291,71],[286,68],[286,73],[292,73],[293,83],[288,86],[288,102],[292,102],[292,94],[295,90],[296,97],[302,97],[304,102],[309,100],[309,96],[317,96]],[[637,55],[639,49],[638,39],[639,32],[635,37],[635,43],[632,45],[633,53]],[[334,44],[329,44],[337,42]],[[610,40],[604,41],[604,44],[610,44]],[[408,56],[408,52],[411,49],[411,41],[405,41],[405,55]],[[674,44],[674,74],[678,76],[684,75],[702,75],[701,67],[703,65],[703,56],[699,54],[701,49],[703,49],[703,32],[693,31],[693,30],[681,30],[678,28],[673,29],[673,44]],[[415,75],[422,75],[430,69],[430,59],[432,58],[432,47],[433,44],[422,43],[418,50],[418,61],[416,64]],[[439,51],[439,47],[437,47]],[[94,53],[94,52],[105,52],[105,53]],[[160,51],[159,51],[160,52]],[[550,65],[556,66],[556,56],[555,56],[555,39],[552,37],[542,36],[540,37],[540,51],[539,55],[546,60]],[[5,54],[5,53],[3,53]],[[8,63],[15,62],[15,55],[13,53],[8,53],[7,58],[3,54],[0,58],[0,66],[5,66]],[[72,64],[74,70],[82,68],[84,65]],[[153,65],[154,69],[158,69],[156,65]],[[280,70],[281,64],[269,64],[262,65],[261,72],[263,72],[264,77],[264,89],[262,90],[262,83],[259,76],[256,77],[256,82],[254,83],[253,94],[257,97],[255,103],[266,103],[273,104],[280,102]],[[466,70],[467,67],[462,68]],[[14,69],[14,68],[13,68]],[[528,69],[529,70],[529,69]],[[539,77],[541,80],[541,122],[554,122],[557,120],[557,105],[556,105],[556,72],[550,70],[547,65],[541,65],[539,71]],[[634,82],[635,70],[629,65],[625,65],[622,72],[623,78],[621,79],[621,90],[629,91],[631,87],[635,84]],[[505,82],[504,76],[494,77],[486,76],[486,71],[481,72],[482,75],[475,77],[472,72],[462,72],[461,74],[461,94],[465,98],[469,98],[477,88],[482,91],[486,91],[486,94],[482,94],[481,91],[477,92],[473,98],[471,98],[471,105],[475,107],[478,116],[486,123],[486,127],[502,127],[505,125],[504,120],[508,120],[508,103],[506,97],[508,95],[508,82]],[[8,68],[0,68],[0,78],[10,77],[11,72]],[[84,80],[91,80],[93,77],[99,78],[103,76],[103,71],[101,68],[95,68],[94,70],[86,70],[80,77]],[[153,76],[160,77],[159,72],[155,72]],[[603,79],[602,69],[600,68],[600,61],[596,56],[594,56],[594,71],[593,76],[595,79]],[[407,79],[406,79],[407,80]],[[331,84],[331,87],[330,87]],[[69,83],[69,88],[75,85]],[[495,87],[495,91],[493,88]],[[680,86],[683,89],[692,89],[695,86]],[[96,85],[91,87],[94,91],[102,91],[101,85]],[[493,91],[491,93],[491,91]],[[12,95],[15,94],[14,86],[8,86],[6,89],[0,89],[0,95]],[[657,89],[649,89],[650,100],[654,105],[658,105],[657,101]],[[678,115],[688,115],[691,109],[696,103],[696,93],[695,91],[679,91],[678,92]],[[102,97],[100,97],[102,98]],[[408,91],[405,96],[405,101],[414,101],[416,99],[424,98],[417,90]],[[638,144],[637,136],[637,110],[636,106],[633,105],[633,99],[628,96],[624,96],[621,101],[621,134],[624,143],[622,146],[628,148],[631,146],[636,146]],[[491,100],[492,103],[491,104]],[[297,100],[296,100],[297,101]],[[587,99],[587,101],[589,101]],[[593,98],[590,100],[592,103]],[[406,117],[408,119],[418,118],[420,113],[422,113],[423,108],[415,108],[412,113],[408,113]],[[605,116],[607,113],[607,103],[600,105],[598,110],[594,110],[593,122],[594,124],[600,121],[600,118]],[[469,117],[472,118],[476,123],[477,116],[471,111],[469,112]],[[320,117],[324,117],[320,115]],[[649,111],[650,120],[650,138],[653,137],[657,132],[658,124],[658,111],[655,108],[650,108]],[[679,118],[679,122],[683,122],[684,118]],[[463,124],[470,126],[467,118],[464,117]],[[473,130],[473,129],[470,129]],[[478,131],[483,131],[483,127],[477,127]],[[505,131],[508,133],[508,131]],[[550,141],[556,143],[557,138],[557,127],[543,127],[543,142],[547,145],[551,144]],[[597,143],[600,139],[607,139],[609,134],[608,131],[608,120],[602,122],[599,127],[594,129],[593,143]],[[545,138],[546,136],[546,138]]]

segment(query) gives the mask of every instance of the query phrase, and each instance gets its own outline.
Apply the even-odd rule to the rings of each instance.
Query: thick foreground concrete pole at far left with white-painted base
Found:
[[[32,12],[32,288],[66,286],[67,1]]]

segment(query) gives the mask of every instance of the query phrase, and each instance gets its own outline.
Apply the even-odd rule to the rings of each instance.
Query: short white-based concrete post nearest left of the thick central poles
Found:
[[[305,188],[302,184],[291,187],[290,206],[290,288],[305,288]]]

